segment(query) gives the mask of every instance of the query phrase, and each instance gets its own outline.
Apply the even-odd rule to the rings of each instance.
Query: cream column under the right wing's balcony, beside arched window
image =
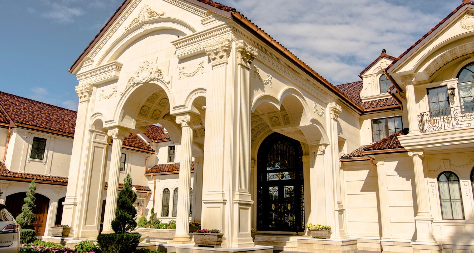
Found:
[[[413,170],[415,172],[415,189],[417,214],[415,217],[415,226],[417,230],[417,242],[435,242],[433,238],[433,218],[429,208],[428,188],[425,184],[425,174],[423,171],[423,151],[408,152],[413,157]]]

